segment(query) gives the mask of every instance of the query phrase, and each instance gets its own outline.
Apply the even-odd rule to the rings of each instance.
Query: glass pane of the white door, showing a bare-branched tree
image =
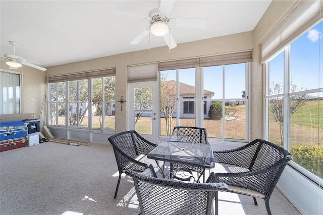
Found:
[[[135,87],[135,130],[152,134],[152,87]]]

